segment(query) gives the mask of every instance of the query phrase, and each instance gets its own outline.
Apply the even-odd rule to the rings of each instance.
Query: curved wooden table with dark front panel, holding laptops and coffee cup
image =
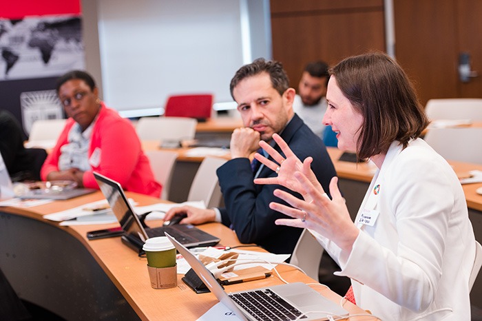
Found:
[[[160,202],[129,192],[127,197],[138,205]],[[147,260],[123,245],[120,238],[86,238],[87,231],[117,224],[60,226],[59,222],[43,218],[44,214],[102,199],[101,192],[96,191],[36,207],[0,209],[0,268],[21,298],[66,320],[196,320],[218,303],[212,293],[194,293],[180,280],[180,275],[176,288],[152,289]],[[148,224],[156,226],[161,221]],[[220,237],[221,245],[240,245],[234,232],[220,223],[199,227]],[[279,265],[277,270],[288,282],[314,282],[293,267]],[[273,284],[282,281],[271,276],[225,289],[231,292]],[[341,300],[325,287],[313,286],[313,289],[335,302]],[[344,307],[350,313],[365,313],[350,302],[344,303]]]

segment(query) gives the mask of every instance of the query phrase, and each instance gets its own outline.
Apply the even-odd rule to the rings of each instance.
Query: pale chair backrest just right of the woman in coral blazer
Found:
[[[154,178],[156,178],[158,183],[163,185],[160,198],[169,200],[172,174],[174,173],[174,165],[176,164],[178,153],[167,150],[148,150],[145,152],[145,155],[149,158],[149,163],[151,163]]]

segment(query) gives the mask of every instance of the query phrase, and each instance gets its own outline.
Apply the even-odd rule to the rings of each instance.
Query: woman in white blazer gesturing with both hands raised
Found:
[[[255,183],[281,184],[304,196],[274,192],[294,208],[270,207],[295,219],[352,280],[356,304],[381,320],[470,320],[469,277],[475,241],[463,189],[452,168],[421,138],[423,107],[399,65],[381,53],[349,57],[331,69],[323,118],[339,149],[377,165],[355,222],[337,178],[330,199],[282,141],[284,156],[260,142],[273,159],[255,155],[278,173]],[[347,293],[348,294],[348,293]]]

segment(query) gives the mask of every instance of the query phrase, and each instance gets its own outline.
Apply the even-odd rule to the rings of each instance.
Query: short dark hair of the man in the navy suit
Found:
[[[264,58],[258,58],[248,65],[242,66],[231,79],[231,84],[229,85],[229,90],[231,90],[231,97],[233,97],[234,88],[242,81],[251,76],[255,76],[266,72],[271,78],[271,84],[280,96],[289,88],[288,75],[283,69],[282,63],[273,60],[264,60]]]

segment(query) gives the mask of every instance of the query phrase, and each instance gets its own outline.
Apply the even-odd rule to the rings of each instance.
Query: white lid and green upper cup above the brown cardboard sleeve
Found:
[[[143,246],[149,267],[175,267],[176,248],[165,236],[148,238]]]

